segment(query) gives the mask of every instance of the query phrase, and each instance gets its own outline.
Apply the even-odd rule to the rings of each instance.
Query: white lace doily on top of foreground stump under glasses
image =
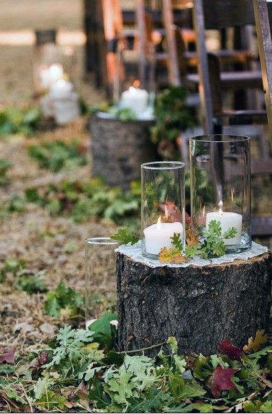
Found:
[[[137,244],[134,246],[131,246],[131,243],[129,243],[128,245],[122,245],[118,247],[115,251],[118,251],[119,253],[128,256],[136,262],[141,262],[149,267],[188,267],[191,265],[220,265],[220,263],[234,262],[234,260],[247,260],[255,256],[259,256],[260,254],[266,253],[268,251],[268,248],[262,245],[258,245],[258,243],[252,242],[251,249],[248,251],[243,251],[242,253],[225,254],[225,256],[221,256],[220,258],[214,259],[201,259],[199,256],[194,256],[188,262],[181,263],[181,265],[170,265],[167,263],[161,263],[159,260],[152,260],[144,257],[141,254],[141,241],[137,242]]]

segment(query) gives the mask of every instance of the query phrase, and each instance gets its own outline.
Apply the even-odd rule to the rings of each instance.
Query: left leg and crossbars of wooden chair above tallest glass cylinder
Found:
[[[253,5],[250,0],[194,0],[193,17],[199,73],[189,74],[187,80],[195,85],[199,84],[202,125],[207,134],[212,134],[214,121],[216,120],[218,123],[220,116],[234,118],[234,112],[231,114],[223,113],[221,90],[261,87],[262,77],[261,72],[256,70],[220,72],[219,57],[207,54],[205,30],[220,30],[253,24]],[[247,115],[251,114],[247,112]],[[239,116],[242,118],[244,114],[240,112]],[[254,113],[254,116],[260,116],[261,121],[264,120],[264,113]]]

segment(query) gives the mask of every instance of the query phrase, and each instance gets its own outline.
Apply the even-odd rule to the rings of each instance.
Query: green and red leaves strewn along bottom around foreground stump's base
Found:
[[[117,350],[114,313],[89,330],[65,326],[23,358],[0,355],[2,407],[16,411],[88,413],[269,413],[272,409],[272,347],[258,331],[238,348],[223,340],[217,355],[179,355],[170,337],[143,349]],[[163,347],[162,347],[163,345]],[[149,347],[150,349],[150,347]]]

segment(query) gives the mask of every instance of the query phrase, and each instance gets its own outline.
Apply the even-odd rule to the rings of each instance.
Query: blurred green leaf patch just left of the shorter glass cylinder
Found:
[[[59,186],[49,184],[45,189],[25,189],[25,199],[48,209],[52,215],[67,214],[76,222],[91,216],[108,218],[115,222],[139,216],[140,184],[131,183],[131,189],[109,187],[99,178],[63,181]]]

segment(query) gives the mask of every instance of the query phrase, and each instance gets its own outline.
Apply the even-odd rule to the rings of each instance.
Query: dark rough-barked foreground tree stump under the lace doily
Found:
[[[269,259],[266,252],[220,265],[150,267],[117,251],[120,349],[174,336],[181,353],[207,355],[217,353],[223,339],[243,346],[258,329],[268,333]]]

